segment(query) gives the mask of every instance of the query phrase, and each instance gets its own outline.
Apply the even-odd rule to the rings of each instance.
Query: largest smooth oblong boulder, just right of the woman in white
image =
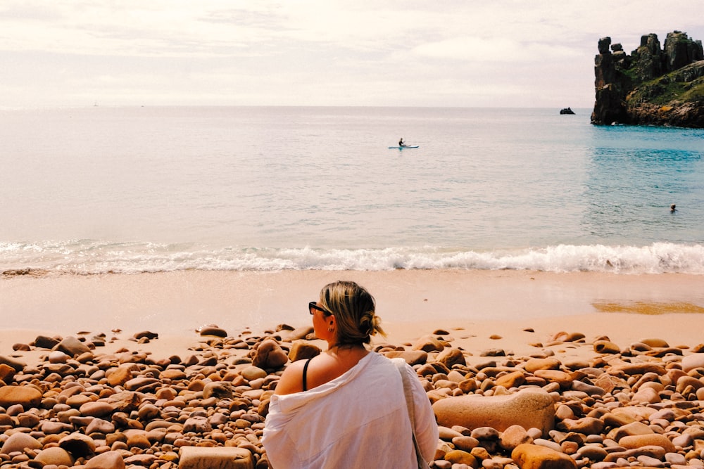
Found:
[[[464,395],[433,404],[439,425],[474,429],[491,427],[503,432],[511,425],[538,428],[543,435],[555,425],[555,405],[548,392],[528,388],[505,396]]]

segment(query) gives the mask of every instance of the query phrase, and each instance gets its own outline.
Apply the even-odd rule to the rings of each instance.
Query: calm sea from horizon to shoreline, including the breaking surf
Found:
[[[558,111],[1,109],[0,271],[704,274],[704,130]]]

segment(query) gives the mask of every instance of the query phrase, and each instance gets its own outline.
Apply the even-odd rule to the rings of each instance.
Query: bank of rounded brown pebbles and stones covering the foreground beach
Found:
[[[39,336],[0,356],[0,465],[267,468],[268,399],[287,363],[320,354],[312,329],[232,338],[206,327],[218,330],[183,357],[142,352],[139,341],[158,340],[150,331],[133,336],[133,351],[101,353],[100,335]],[[646,338],[622,349],[578,332],[532,340],[533,356],[472,356],[446,330],[379,345],[414,366],[434,403],[435,468],[704,469],[704,345]],[[551,344],[593,358],[558,356]],[[27,366],[25,348],[48,352]]]

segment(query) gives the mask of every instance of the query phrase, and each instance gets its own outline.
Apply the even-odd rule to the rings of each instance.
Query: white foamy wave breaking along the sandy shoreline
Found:
[[[276,271],[393,269],[597,271],[617,274],[704,274],[704,246],[653,243],[555,245],[515,250],[436,247],[383,249],[208,248],[197,244],[0,243],[2,271],[139,274],[179,270]]]

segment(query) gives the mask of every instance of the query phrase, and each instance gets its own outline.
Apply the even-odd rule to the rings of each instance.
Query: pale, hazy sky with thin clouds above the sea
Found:
[[[601,37],[704,39],[701,0],[0,0],[0,108],[591,108]]]

